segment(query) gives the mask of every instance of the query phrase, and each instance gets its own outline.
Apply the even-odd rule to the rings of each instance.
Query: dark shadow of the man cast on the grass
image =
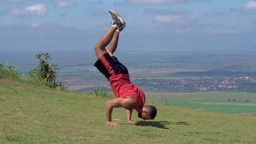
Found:
[[[137,126],[154,126],[156,128],[163,128],[163,129],[169,129],[166,128],[165,126],[168,124],[184,124],[184,125],[190,125],[187,122],[177,122],[177,123],[172,123],[172,122],[166,122],[166,121],[153,121],[153,122],[146,122],[146,121],[139,121]]]

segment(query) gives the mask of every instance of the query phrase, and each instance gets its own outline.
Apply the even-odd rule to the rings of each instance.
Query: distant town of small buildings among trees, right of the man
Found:
[[[182,78],[178,80],[134,79],[137,86],[153,87],[168,92],[177,91],[241,91],[256,93],[256,78]]]

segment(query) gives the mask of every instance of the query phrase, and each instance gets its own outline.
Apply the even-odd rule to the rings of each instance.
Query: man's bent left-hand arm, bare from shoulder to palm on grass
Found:
[[[106,119],[107,119],[107,124],[110,126],[118,126],[118,123],[112,122],[111,114],[113,108],[126,108],[130,109],[135,106],[135,100],[134,98],[130,96],[126,96],[126,98],[116,98],[114,100],[110,100],[106,102]]]

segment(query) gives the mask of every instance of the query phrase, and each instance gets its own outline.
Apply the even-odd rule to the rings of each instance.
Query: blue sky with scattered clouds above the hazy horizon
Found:
[[[0,0],[0,50],[93,50],[108,9],[120,50],[256,50],[256,0]]]

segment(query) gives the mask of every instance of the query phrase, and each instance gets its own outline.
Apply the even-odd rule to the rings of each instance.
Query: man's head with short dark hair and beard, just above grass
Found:
[[[153,120],[156,117],[156,107],[154,106],[143,106],[142,113],[138,113],[138,117],[143,120]]]

